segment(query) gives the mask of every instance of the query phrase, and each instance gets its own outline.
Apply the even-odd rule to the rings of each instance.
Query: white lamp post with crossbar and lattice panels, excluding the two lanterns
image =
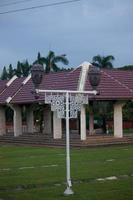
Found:
[[[69,119],[77,118],[77,112],[81,106],[88,104],[88,94],[97,95],[97,91],[72,91],[72,90],[41,90],[36,89],[36,93],[45,93],[45,103],[51,104],[51,110],[57,111],[59,118],[66,119],[66,182],[67,188],[64,195],[74,194],[72,190],[70,173],[70,133]]]

